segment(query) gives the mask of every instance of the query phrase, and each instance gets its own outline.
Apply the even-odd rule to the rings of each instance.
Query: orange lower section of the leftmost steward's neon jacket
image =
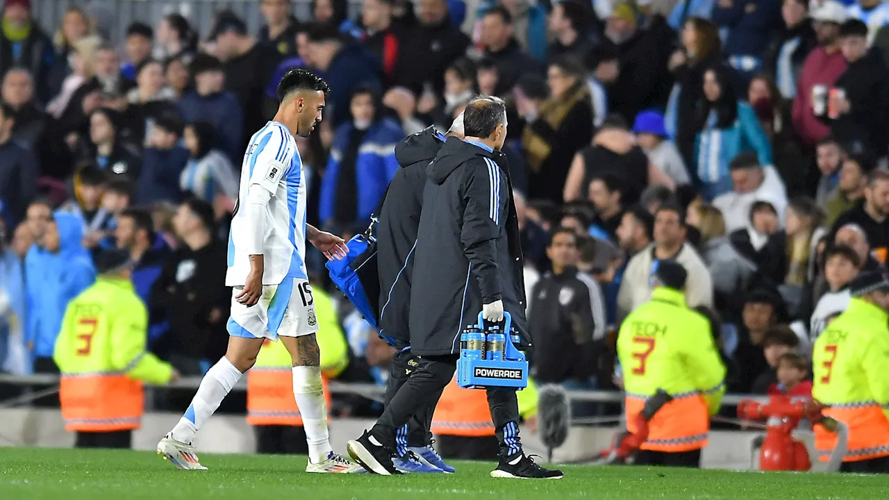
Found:
[[[138,429],[145,405],[142,383],[119,372],[62,374],[59,399],[67,431]]]

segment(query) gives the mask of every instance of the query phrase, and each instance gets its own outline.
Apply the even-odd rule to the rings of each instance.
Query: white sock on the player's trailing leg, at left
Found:
[[[185,415],[172,428],[172,439],[183,443],[194,440],[197,430],[220,407],[222,399],[225,399],[241,375],[241,371],[224,356],[207,370],[207,375],[204,375],[201,385],[197,387],[195,398],[185,410]]]

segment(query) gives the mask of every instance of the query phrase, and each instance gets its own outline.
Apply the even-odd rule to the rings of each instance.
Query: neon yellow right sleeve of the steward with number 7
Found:
[[[708,323],[703,320],[689,323],[688,327],[693,330],[685,337],[687,340],[680,343],[679,349],[685,359],[685,369],[701,391],[709,414],[716,415],[725,394],[725,365]]]

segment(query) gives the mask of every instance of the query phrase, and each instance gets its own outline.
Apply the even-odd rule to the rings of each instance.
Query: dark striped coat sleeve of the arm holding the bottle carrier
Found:
[[[482,303],[489,304],[502,299],[497,236],[501,223],[506,222],[501,210],[502,199],[509,193],[505,193],[501,184],[500,166],[493,161],[474,162],[468,170],[460,240],[482,291]]]

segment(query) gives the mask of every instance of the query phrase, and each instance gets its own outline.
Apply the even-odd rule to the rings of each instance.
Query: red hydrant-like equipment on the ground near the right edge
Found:
[[[759,452],[762,471],[808,471],[812,468],[805,445],[793,439],[791,432],[803,418],[812,422],[821,419],[821,406],[811,399],[791,402],[783,396],[773,396],[765,405],[745,399],[738,405],[742,420],[765,420],[765,439]]]

